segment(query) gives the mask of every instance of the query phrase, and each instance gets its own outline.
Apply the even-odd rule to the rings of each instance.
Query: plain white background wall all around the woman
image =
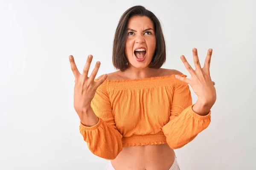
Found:
[[[102,62],[97,76],[116,71],[113,36],[122,13],[134,5],[145,6],[163,24],[163,68],[190,77],[180,55],[193,65],[192,48],[201,63],[213,49],[212,122],[175,150],[181,169],[256,169],[253,0],[0,0],[1,170],[105,169],[107,161],[90,153],[79,133],[68,56],[80,71],[88,54],[93,67]]]

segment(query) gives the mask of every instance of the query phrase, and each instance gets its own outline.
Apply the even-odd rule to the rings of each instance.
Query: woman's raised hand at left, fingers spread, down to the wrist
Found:
[[[95,68],[93,69],[90,77],[88,77],[88,72],[90,69],[90,64],[92,62],[93,56],[89,55],[87,61],[84,65],[83,74],[80,74],[74,58],[72,55],[69,56],[71,69],[75,76],[75,87],[74,87],[74,108],[80,119],[84,119],[87,115],[87,110],[90,108],[90,103],[95,95],[96,89],[101,85],[105,79],[107,79],[108,74],[105,74],[98,81],[94,81],[96,74],[98,73],[100,62],[97,61]]]

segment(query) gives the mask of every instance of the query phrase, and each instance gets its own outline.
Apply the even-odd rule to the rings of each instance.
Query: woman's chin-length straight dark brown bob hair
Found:
[[[143,6],[133,6],[129,8],[122,14],[119,20],[113,40],[112,62],[114,67],[120,71],[125,71],[128,68],[126,63],[129,61],[125,54],[125,42],[128,20],[133,16],[146,16],[153,22],[156,35],[156,49],[152,61],[149,64],[149,68],[160,68],[166,61],[166,45],[163,31],[157,17]]]

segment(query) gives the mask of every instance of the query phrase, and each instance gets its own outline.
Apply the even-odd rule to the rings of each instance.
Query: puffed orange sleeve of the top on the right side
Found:
[[[206,116],[201,116],[192,110],[193,105],[189,85],[175,78],[169,122],[162,128],[167,143],[172,149],[183,147],[191,142],[198,133],[208,127],[211,121],[211,111]]]

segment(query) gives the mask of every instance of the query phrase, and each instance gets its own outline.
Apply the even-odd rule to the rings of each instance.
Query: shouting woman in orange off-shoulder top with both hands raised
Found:
[[[192,141],[210,123],[216,100],[209,74],[212,49],[204,68],[193,49],[195,70],[184,56],[180,71],[160,68],[165,41],[157,17],[143,6],[129,8],[119,20],[113,42],[113,65],[119,71],[88,77],[92,55],[80,74],[73,56],[74,108],[90,151],[110,160],[107,170],[178,170],[174,149]],[[198,96],[192,105],[189,85]]]

